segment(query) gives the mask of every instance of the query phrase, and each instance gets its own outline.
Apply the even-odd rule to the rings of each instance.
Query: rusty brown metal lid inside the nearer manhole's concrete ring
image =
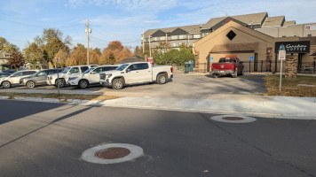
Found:
[[[123,158],[130,154],[130,150],[126,148],[108,148],[104,150],[98,150],[95,153],[97,158],[104,159],[115,159],[115,158]]]

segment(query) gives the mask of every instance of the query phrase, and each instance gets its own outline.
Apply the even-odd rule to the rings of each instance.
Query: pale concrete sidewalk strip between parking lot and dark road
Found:
[[[20,93],[52,93],[54,90],[21,89]],[[96,94],[102,92],[81,90],[64,94]],[[8,96],[0,96],[7,99]],[[65,100],[51,98],[16,97],[16,100],[65,103]],[[127,96],[107,101],[67,100],[70,104],[86,104],[99,106],[130,107],[181,112],[212,112],[244,114],[265,118],[316,119],[316,97],[293,96],[256,96],[256,95],[214,95],[210,99],[181,99],[165,97]]]

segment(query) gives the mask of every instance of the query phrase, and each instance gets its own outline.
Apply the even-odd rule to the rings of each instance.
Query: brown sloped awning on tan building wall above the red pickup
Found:
[[[213,47],[209,53],[218,52],[254,52],[258,48],[258,42],[248,43],[229,43],[229,44],[217,44]]]

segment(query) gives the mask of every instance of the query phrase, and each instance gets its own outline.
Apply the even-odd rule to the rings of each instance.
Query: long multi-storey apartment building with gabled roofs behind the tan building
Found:
[[[192,47],[192,44],[206,35],[209,35],[217,28],[222,27],[229,21],[234,21],[244,27],[253,29],[265,27],[283,27],[284,25],[295,24],[295,21],[286,21],[284,16],[268,17],[267,12],[237,15],[232,17],[212,18],[205,24],[198,24],[184,27],[167,27],[159,29],[149,29],[145,32],[142,39],[150,42],[150,47],[154,48],[158,42],[170,42],[174,49],[178,49],[181,44]],[[265,32],[263,32],[265,33]]]

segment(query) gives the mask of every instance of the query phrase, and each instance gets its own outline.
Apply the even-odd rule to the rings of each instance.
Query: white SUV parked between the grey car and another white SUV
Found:
[[[97,65],[74,65],[65,68],[64,71],[59,73],[59,81],[57,81],[57,73],[51,74],[47,76],[47,84],[54,85],[57,87],[57,83],[59,84],[59,88],[63,88],[68,84],[68,79],[74,74],[83,73],[87,71],[91,67],[95,67]]]

